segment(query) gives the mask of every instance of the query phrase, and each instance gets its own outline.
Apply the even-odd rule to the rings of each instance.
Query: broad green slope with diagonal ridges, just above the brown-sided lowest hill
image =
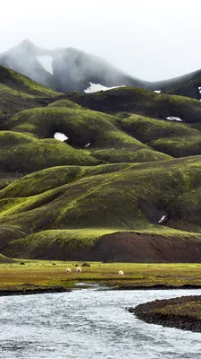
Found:
[[[158,162],[157,167],[154,163],[147,163],[141,166],[128,164],[126,167],[123,164],[111,165],[109,169],[107,165],[100,168],[67,166],[41,171],[0,192],[1,214],[6,215],[6,222],[11,219],[12,223],[17,223],[20,215],[28,226],[29,216],[31,221],[36,217],[38,224],[35,227],[33,221],[34,230],[38,230],[40,222],[43,226],[49,225],[45,224],[44,215],[38,218],[39,212],[48,213],[52,226],[58,228],[95,225],[142,229],[148,223],[157,223],[163,211],[168,213],[169,223],[183,223],[183,228],[185,222],[201,225],[200,162],[197,156],[189,157],[188,161]],[[39,183],[42,183],[41,188]],[[13,206],[14,197],[20,204]],[[149,214],[147,206],[155,215]],[[26,215],[27,210],[29,214]]]

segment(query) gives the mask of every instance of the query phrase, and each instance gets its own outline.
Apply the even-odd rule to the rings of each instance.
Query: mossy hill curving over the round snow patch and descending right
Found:
[[[6,121],[4,126],[9,130],[30,133],[38,138],[53,137],[55,132],[62,132],[68,136],[68,144],[80,149],[85,149],[85,145],[90,144],[85,152],[106,162],[170,159],[122,131],[117,118],[82,109],[76,104],[73,107],[71,101],[67,101],[67,104],[65,101],[65,105],[54,107],[52,104],[45,109],[24,110]]]

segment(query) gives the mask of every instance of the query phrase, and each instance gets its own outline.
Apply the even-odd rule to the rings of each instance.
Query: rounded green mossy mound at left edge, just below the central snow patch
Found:
[[[28,133],[0,132],[1,171],[29,173],[61,165],[95,165],[98,161],[83,150],[54,139],[40,140]]]

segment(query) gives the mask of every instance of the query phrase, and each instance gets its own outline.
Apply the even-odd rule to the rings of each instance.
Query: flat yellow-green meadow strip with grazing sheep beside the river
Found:
[[[20,263],[23,261],[24,266]],[[53,266],[53,263],[55,266]],[[82,273],[75,273],[75,264],[83,262],[39,261],[20,259],[13,264],[0,265],[0,289],[26,288],[30,285],[63,285],[75,288],[76,283],[99,283],[116,287],[152,285],[201,285],[199,264],[136,264],[89,262],[91,267],[82,267]],[[71,274],[66,274],[71,267]],[[124,276],[118,276],[123,270]]]

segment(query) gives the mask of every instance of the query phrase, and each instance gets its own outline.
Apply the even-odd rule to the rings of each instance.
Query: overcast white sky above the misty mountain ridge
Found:
[[[104,57],[145,80],[201,68],[200,0],[5,0],[0,52],[30,39]]]

